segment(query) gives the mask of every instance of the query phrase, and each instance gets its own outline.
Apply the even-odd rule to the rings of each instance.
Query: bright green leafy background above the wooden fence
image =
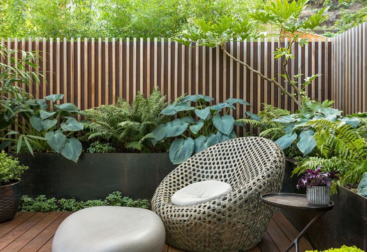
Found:
[[[262,0],[1,0],[0,37],[173,37],[187,20],[246,18]]]

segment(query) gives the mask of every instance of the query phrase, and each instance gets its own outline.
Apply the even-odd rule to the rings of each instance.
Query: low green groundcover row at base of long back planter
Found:
[[[129,197],[123,197],[119,191],[109,194],[105,200],[88,200],[77,201],[76,199],[47,199],[44,195],[39,195],[36,198],[30,198],[23,195],[22,204],[19,207],[20,211],[36,211],[36,212],[75,212],[88,207],[96,206],[119,206],[119,207],[138,207],[148,208],[148,200],[133,200]]]

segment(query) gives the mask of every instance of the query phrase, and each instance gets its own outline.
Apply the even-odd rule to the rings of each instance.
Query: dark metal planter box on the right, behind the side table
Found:
[[[298,178],[289,178],[293,168],[294,163],[287,161],[283,192],[304,193],[295,187]],[[331,200],[335,203],[333,210],[312,227],[307,234],[309,240],[318,250],[355,245],[367,251],[367,198],[340,187]],[[306,211],[281,211],[298,230],[316,215]]]

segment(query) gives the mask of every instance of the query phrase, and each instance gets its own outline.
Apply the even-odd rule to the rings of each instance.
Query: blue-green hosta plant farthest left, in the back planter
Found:
[[[18,131],[9,130],[7,135],[18,137],[0,139],[15,142],[17,152],[23,144],[30,153],[33,153],[32,146],[37,146],[38,149],[55,151],[77,162],[82,152],[82,145],[73,133],[83,130],[83,124],[74,118],[79,109],[71,103],[54,104],[53,109],[50,106],[51,102],[55,103],[63,97],[61,94],[55,94],[44,99],[25,100],[19,109],[21,112],[15,117],[6,117],[5,114],[5,119],[18,126]]]

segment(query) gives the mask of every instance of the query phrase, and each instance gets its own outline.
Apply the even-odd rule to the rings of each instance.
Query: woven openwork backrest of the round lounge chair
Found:
[[[187,159],[173,172],[180,172],[188,183],[214,179],[235,189],[269,170],[279,169],[283,173],[281,164],[284,167],[284,153],[279,145],[251,136],[213,145]]]

